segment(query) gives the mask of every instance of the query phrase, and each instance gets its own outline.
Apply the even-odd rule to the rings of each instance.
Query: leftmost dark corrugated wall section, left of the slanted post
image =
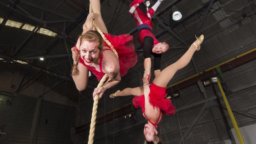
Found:
[[[37,99],[28,96],[0,95],[1,144],[27,144]],[[6,103],[9,100],[12,104]]]

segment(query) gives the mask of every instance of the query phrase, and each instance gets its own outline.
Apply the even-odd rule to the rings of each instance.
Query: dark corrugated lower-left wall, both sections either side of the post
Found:
[[[0,129],[2,133],[8,133],[0,136],[0,144],[28,144],[36,102],[37,98],[29,96],[17,95],[12,98],[11,95],[0,95]],[[71,143],[70,127],[74,126],[74,107],[44,101],[40,118],[34,144],[36,139],[37,144]]]

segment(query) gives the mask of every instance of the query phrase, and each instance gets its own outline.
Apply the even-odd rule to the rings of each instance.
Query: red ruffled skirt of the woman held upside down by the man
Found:
[[[166,89],[163,87],[158,87],[154,83],[151,83],[149,88],[149,103],[154,107],[159,107],[163,114],[175,114],[175,107],[173,106],[172,101],[165,98],[167,96],[167,93],[165,93]],[[144,94],[141,96],[135,96],[132,99],[132,102],[136,109],[141,107],[142,111],[145,111]]]

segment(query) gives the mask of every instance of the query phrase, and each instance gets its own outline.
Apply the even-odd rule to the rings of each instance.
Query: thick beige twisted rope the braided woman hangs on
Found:
[[[89,13],[93,13],[93,9],[91,7],[91,4],[90,4]],[[111,48],[111,50],[113,50],[115,55],[117,55],[117,51],[114,49],[114,47],[111,44],[111,42],[108,41],[108,39],[105,37],[104,33],[102,33],[102,31],[98,28],[98,26],[95,24],[94,21],[93,21],[93,26],[100,33],[100,35],[102,36],[102,38],[104,39],[106,44],[108,44],[108,46]],[[117,55],[117,57],[118,57],[118,55]],[[103,78],[100,80],[100,82],[98,83],[97,88],[101,87],[104,84],[104,82],[106,81],[107,78],[108,78],[108,74],[105,74],[103,76]],[[97,108],[98,108],[98,100],[99,100],[99,95],[97,94],[94,97],[94,102],[93,102],[93,113],[91,115],[91,125],[90,125],[88,144],[93,144],[93,138],[94,138],[94,132],[95,132],[95,124],[96,124],[96,116],[97,116]]]

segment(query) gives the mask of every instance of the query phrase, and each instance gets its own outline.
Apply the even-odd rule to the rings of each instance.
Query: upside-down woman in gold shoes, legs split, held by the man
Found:
[[[157,125],[161,122],[163,115],[175,114],[175,107],[172,105],[171,100],[165,99],[165,96],[167,96],[165,87],[174,74],[189,63],[195,51],[200,49],[200,44],[203,40],[204,35],[201,35],[191,44],[187,52],[178,61],[161,71],[150,85],[145,85],[149,82],[148,79],[143,79],[143,86],[126,88],[122,91],[117,90],[117,92],[109,96],[110,98],[116,96],[135,96],[132,99],[135,108],[141,107],[143,116],[148,120],[143,131],[145,144],[162,144],[156,130]],[[144,76],[147,74],[145,72]]]

